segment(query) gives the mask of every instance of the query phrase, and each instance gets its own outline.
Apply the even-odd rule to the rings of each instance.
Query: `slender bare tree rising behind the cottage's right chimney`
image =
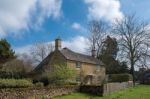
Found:
[[[89,42],[90,42],[90,50],[95,49],[96,55],[98,56],[101,52],[102,43],[105,40],[108,32],[108,25],[103,21],[91,21],[89,22]]]

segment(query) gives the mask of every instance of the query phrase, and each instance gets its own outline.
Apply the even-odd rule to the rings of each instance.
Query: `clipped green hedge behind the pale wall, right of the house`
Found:
[[[131,80],[132,80],[131,74],[110,74],[109,75],[109,82],[126,82]]]

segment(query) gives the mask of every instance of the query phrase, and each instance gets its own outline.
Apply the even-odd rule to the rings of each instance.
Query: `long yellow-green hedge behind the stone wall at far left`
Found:
[[[32,86],[32,82],[26,79],[0,79],[0,88],[26,88]]]

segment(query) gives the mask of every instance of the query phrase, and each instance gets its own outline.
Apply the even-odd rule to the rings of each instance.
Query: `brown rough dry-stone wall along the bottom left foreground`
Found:
[[[78,91],[77,86],[51,87],[51,88],[6,88],[0,89],[0,99],[39,99],[61,96]]]

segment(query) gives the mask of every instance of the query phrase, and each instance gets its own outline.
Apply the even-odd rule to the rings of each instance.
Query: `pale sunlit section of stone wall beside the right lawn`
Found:
[[[133,82],[129,81],[129,82],[116,82],[116,83],[107,83],[103,85],[103,95],[109,95],[113,92],[128,88],[128,87],[132,87],[133,86]]]

